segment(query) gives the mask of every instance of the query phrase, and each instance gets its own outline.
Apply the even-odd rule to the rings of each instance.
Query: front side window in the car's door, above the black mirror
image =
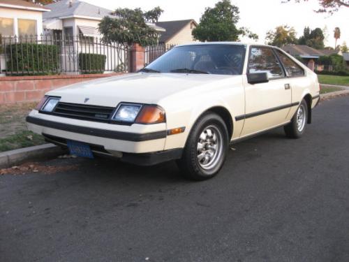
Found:
[[[251,48],[248,73],[267,73],[270,79],[282,78],[283,69],[272,48]]]

